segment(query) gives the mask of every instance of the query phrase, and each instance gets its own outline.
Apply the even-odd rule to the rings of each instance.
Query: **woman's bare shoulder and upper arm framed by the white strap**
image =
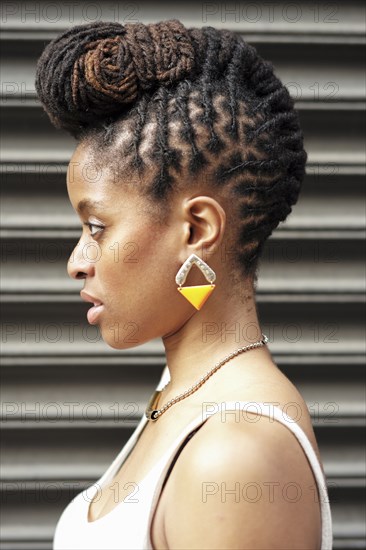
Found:
[[[214,414],[179,455],[164,507],[168,547],[319,548],[316,481],[300,443],[264,415],[237,420]]]

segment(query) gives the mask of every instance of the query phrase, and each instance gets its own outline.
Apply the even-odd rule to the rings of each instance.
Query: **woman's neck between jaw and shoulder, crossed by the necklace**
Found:
[[[254,292],[246,304],[213,293],[203,308],[193,311],[183,326],[163,337],[170,383],[163,392],[167,399],[184,393],[227,355],[262,340]],[[239,353],[224,363],[204,385],[214,390],[230,384],[233,367],[260,368],[271,358],[266,345]],[[201,388],[197,390],[200,391]],[[193,394],[192,394],[193,395]]]

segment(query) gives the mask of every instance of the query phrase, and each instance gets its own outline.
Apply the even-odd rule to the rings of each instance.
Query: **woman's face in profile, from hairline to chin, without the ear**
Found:
[[[83,291],[90,300],[82,291],[83,299],[102,304],[91,305],[88,321],[98,324],[104,341],[116,349],[175,332],[192,313],[175,283],[182,264],[181,232],[170,219],[169,225],[152,221],[134,183],[141,185],[130,177],[128,189],[113,182],[108,170],[98,170],[86,146],[75,149],[67,190],[83,229],[68,273],[85,279]]]

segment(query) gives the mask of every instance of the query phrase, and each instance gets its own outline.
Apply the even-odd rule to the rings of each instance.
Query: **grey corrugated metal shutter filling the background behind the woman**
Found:
[[[36,60],[74,24],[172,17],[242,33],[296,97],[307,176],[267,243],[259,314],[312,414],[334,548],[364,548],[363,3],[12,2],[2,10],[2,548],[51,548],[61,511],[116,456],[165,364],[160,341],[118,352],[86,322],[82,287],[66,272],[80,232],[65,186],[75,142],[36,100]]]

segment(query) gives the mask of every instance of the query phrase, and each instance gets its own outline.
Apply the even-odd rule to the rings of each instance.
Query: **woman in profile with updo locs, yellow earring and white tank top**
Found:
[[[263,245],[305,172],[288,90],[239,36],[175,19],[74,26],[45,48],[36,89],[77,140],[68,272],[88,321],[116,349],[161,337],[167,359],[54,549],[330,549],[311,418],[255,303]]]

